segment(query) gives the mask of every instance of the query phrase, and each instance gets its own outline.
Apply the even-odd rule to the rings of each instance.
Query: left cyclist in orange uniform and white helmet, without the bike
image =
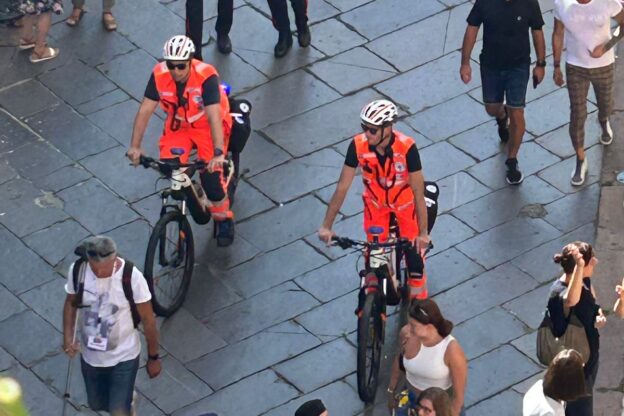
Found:
[[[188,160],[193,146],[197,156],[208,162],[200,173],[202,186],[211,201],[217,245],[228,246],[234,239],[234,221],[223,181],[223,163],[232,131],[228,97],[219,74],[209,64],[193,59],[195,46],[186,36],[174,36],[165,43],[165,62],[156,64],[145,90],[145,97],[134,120],[128,158],[137,165],[147,123],[160,103],[167,114],[160,138],[160,158],[178,157],[173,148],[184,149],[179,156]]]

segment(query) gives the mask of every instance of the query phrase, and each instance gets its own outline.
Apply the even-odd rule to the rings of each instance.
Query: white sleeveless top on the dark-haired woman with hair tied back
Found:
[[[414,358],[403,356],[405,375],[413,387],[420,391],[429,387],[448,390],[453,385],[451,371],[444,363],[444,354],[448,344],[454,339],[452,335],[448,335],[433,347],[421,345]]]

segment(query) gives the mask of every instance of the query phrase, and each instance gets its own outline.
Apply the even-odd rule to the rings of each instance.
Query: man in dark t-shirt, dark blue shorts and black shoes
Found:
[[[472,79],[470,54],[483,25],[479,62],[485,111],[496,118],[500,140],[507,144],[505,179],[510,185],[519,185],[524,180],[518,151],[525,132],[524,107],[531,65],[529,31],[537,55],[534,87],[544,78],[546,67],[542,12],[537,0],[476,0],[466,21],[460,76],[465,84]]]

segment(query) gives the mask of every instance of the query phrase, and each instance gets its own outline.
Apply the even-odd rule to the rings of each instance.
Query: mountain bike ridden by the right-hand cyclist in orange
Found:
[[[438,186],[433,182],[425,183],[425,201],[431,232],[437,217]],[[412,242],[401,238],[394,215],[391,215],[388,240],[379,242],[383,234],[382,227],[371,227],[369,234],[373,241],[358,241],[347,237],[332,237],[335,245],[343,250],[353,247],[364,253],[365,268],[359,271],[360,290],[358,293],[357,324],[357,385],[360,399],[366,403],[375,400],[379,382],[379,366],[382,359],[382,346],[385,340],[387,305],[399,304],[400,325],[407,322],[410,303],[408,270],[404,253],[411,249]],[[433,244],[419,253],[423,260],[433,248]]]

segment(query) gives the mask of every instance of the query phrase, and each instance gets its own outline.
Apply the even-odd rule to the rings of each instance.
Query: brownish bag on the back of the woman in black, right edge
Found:
[[[548,366],[552,359],[561,350],[573,349],[583,357],[583,363],[589,360],[589,342],[583,323],[578,319],[574,311],[570,311],[568,326],[564,334],[557,338],[553,334],[553,323],[548,313],[544,313],[544,319],[537,330],[537,359],[540,363]]]

